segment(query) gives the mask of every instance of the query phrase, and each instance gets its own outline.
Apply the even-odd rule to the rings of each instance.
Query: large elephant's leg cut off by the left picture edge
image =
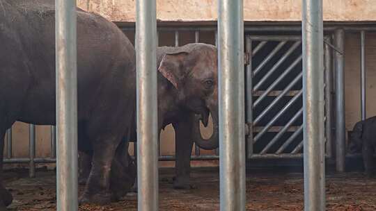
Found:
[[[0,128],[0,211],[5,211],[6,207],[13,201],[13,196],[3,186],[3,149],[4,136],[6,130]]]

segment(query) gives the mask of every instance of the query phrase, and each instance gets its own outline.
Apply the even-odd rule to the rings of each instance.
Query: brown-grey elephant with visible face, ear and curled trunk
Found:
[[[173,187],[189,189],[193,142],[203,149],[218,147],[217,49],[210,44],[158,47],[158,126],[175,129],[175,179]],[[199,120],[207,126],[212,114],[212,137],[201,137]],[[131,135],[131,140],[134,135]],[[80,182],[90,169],[90,155],[81,155]],[[134,189],[135,190],[135,189]]]

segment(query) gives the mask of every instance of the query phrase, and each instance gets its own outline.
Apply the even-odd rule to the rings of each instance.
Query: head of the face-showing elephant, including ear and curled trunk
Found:
[[[210,44],[187,44],[164,54],[158,70],[177,91],[180,106],[196,113],[194,141],[203,149],[216,149],[218,141],[217,49]],[[213,134],[204,140],[199,120],[207,126],[212,115]]]

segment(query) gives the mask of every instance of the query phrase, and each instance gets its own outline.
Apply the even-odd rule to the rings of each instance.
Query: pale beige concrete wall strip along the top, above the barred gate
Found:
[[[375,0],[323,0],[324,20],[351,22],[376,20]],[[78,0],[80,8],[104,15],[113,22],[135,21],[134,0]],[[214,21],[217,0],[157,0],[160,21]],[[301,0],[244,1],[246,21],[300,21]]]

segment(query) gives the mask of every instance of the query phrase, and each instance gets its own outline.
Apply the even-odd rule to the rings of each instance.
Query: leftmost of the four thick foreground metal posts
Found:
[[[56,197],[58,211],[78,210],[76,1],[56,0]]]

